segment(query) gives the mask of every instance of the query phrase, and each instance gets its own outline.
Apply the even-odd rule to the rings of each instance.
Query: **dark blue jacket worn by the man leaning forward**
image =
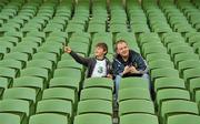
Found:
[[[129,51],[129,59],[127,62],[117,54],[113,59],[112,68],[113,68],[113,75],[122,75],[126,65],[133,65],[138,71],[141,73],[147,72],[147,65],[142,56],[133,50]]]

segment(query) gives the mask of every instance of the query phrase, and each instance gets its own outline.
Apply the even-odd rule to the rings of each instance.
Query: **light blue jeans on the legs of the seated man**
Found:
[[[149,74],[144,73],[141,78],[148,80],[148,82],[149,82],[149,90],[151,91],[151,83],[150,83]],[[114,79],[114,91],[116,91],[116,94],[114,94],[114,99],[116,100],[114,100],[114,102],[118,102],[120,82],[121,82],[121,75],[117,75],[116,79]]]

